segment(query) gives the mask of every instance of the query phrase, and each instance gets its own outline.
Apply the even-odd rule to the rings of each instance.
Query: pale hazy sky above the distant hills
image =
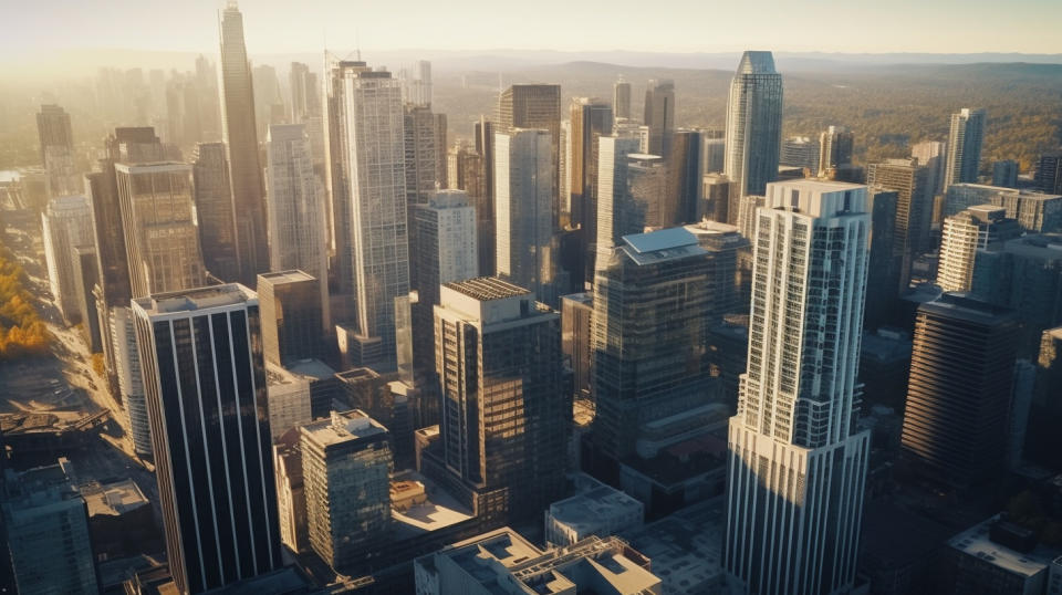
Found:
[[[221,0],[0,0],[0,53],[217,51]],[[252,54],[331,48],[1062,53],[1062,0],[244,0]]]

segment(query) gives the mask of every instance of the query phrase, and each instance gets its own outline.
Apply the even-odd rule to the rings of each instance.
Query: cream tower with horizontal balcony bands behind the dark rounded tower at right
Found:
[[[940,262],[937,265],[937,285],[940,289],[969,291],[978,252],[1021,234],[1018,221],[1006,216],[1007,211],[1000,207],[979,205],[944,220]]]

